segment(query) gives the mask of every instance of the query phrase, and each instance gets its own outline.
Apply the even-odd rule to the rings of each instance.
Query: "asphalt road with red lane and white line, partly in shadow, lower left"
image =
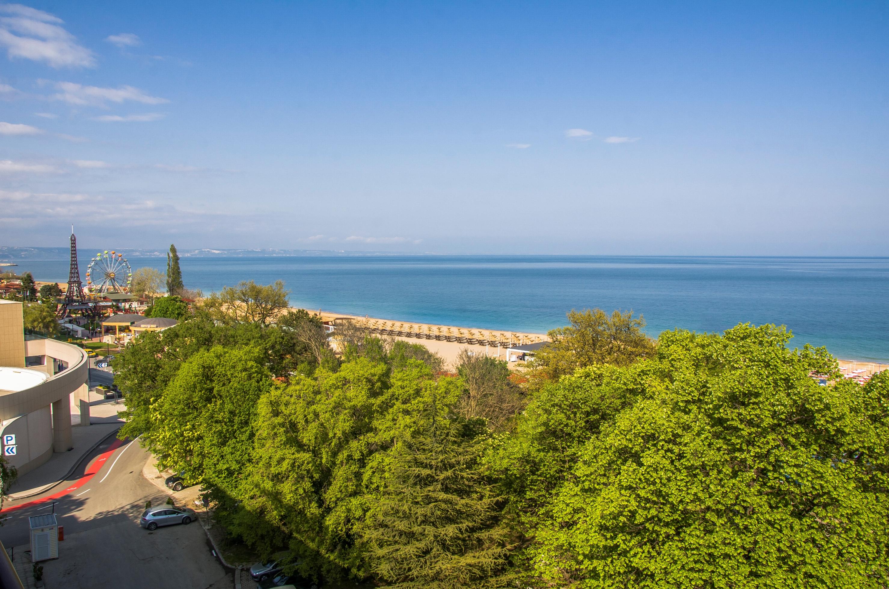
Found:
[[[216,561],[200,524],[141,528],[139,518],[145,502],[163,504],[166,497],[142,477],[148,452],[138,442],[127,442],[109,454],[113,440],[97,448],[78,467],[70,480],[41,496],[4,503],[0,539],[9,548],[29,543],[28,516],[52,512],[52,502],[39,503],[47,496],[55,499],[55,512],[65,528],[59,543],[59,559],[44,561],[47,587],[206,587],[234,586],[231,573]],[[97,470],[98,467],[98,470]],[[92,479],[82,480],[95,472]],[[67,486],[66,486],[67,485]],[[17,505],[18,509],[6,510]],[[26,558],[17,549],[15,559]]]

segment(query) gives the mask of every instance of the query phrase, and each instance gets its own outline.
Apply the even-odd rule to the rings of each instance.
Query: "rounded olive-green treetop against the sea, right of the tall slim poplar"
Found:
[[[285,311],[289,290],[282,280],[270,285],[258,285],[244,280],[237,286],[224,286],[221,293],[213,293],[202,303],[204,311],[219,321],[249,321],[266,323]]]

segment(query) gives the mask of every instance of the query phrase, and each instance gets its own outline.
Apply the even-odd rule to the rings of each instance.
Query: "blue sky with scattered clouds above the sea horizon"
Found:
[[[889,255],[887,58],[885,2],[0,4],[0,245]]]

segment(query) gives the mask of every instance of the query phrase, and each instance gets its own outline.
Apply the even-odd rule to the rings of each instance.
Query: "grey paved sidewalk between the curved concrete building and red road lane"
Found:
[[[73,450],[68,452],[55,452],[52,458],[41,464],[36,469],[22,475],[16,479],[10,487],[9,499],[21,499],[26,496],[43,493],[48,488],[52,488],[60,481],[65,480],[71,469],[80,462],[92,448],[101,442],[101,445],[110,444],[114,438],[102,441],[111,434],[120,429],[123,425],[122,421],[114,421],[109,423],[92,424],[87,427],[71,428],[71,445]]]

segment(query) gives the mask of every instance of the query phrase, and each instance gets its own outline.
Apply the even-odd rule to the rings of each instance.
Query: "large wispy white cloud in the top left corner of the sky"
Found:
[[[21,4],[0,4],[0,45],[10,59],[44,61],[53,68],[92,68],[92,52],[60,27],[62,20]]]

